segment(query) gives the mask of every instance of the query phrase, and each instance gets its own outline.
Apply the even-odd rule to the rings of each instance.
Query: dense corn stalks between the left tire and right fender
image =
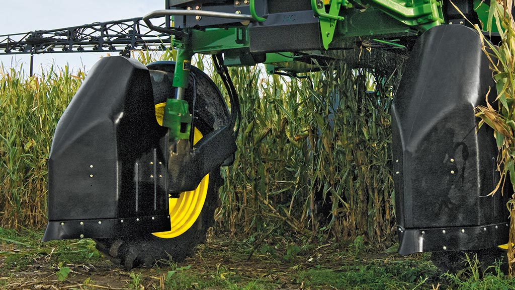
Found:
[[[232,70],[243,124],[235,162],[223,169],[222,228],[313,235],[323,227],[338,239],[391,243],[389,107],[400,73],[344,63],[309,79]]]

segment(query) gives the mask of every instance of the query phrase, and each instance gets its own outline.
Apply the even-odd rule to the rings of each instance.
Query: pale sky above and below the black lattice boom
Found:
[[[164,9],[165,0],[0,0],[0,35],[25,33],[33,30],[56,29],[75,25],[143,17],[150,11]],[[117,53],[115,53],[117,54]],[[74,71],[89,70],[105,53],[55,53],[34,56],[34,71],[55,63],[66,64]],[[4,67],[23,65],[28,74],[30,55],[2,55]]]

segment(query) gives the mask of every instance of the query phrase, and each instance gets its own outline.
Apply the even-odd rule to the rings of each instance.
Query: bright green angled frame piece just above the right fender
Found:
[[[425,31],[443,24],[441,0],[367,0],[394,19]]]

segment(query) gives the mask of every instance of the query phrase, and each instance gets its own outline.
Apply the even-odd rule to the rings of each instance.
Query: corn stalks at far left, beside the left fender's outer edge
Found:
[[[83,79],[63,70],[26,77],[0,69],[0,225],[38,228],[46,220],[47,164],[57,121]]]

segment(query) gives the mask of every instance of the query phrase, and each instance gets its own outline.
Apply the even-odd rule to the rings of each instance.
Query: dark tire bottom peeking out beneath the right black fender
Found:
[[[508,264],[506,251],[500,248],[488,248],[475,251],[443,251],[432,252],[431,261],[442,272],[449,271],[450,273],[457,273],[462,270],[468,270],[471,265],[467,262],[467,256],[472,263],[474,257],[477,257],[479,262],[479,274],[483,275],[486,272],[492,271],[497,263],[501,262],[501,271],[507,273]]]

